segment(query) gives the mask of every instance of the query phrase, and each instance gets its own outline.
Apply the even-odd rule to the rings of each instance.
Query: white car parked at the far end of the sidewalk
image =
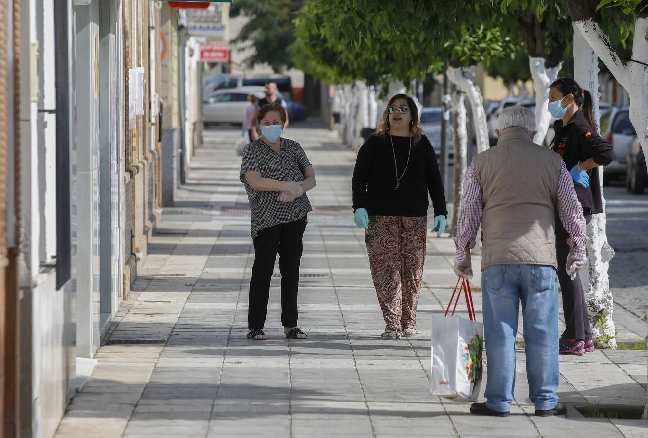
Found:
[[[204,96],[202,103],[203,122],[242,125],[246,108],[249,106],[249,95],[255,95],[257,98],[266,96],[263,86],[218,89]],[[283,98],[279,91],[277,91],[277,98]]]

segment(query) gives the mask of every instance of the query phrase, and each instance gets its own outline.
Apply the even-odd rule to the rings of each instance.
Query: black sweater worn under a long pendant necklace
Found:
[[[432,144],[425,135],[417,143],[412,141],[410,163],[410,137],[393,136],[392,151],[389,135],[372,135],[358,151],[353,170],[353,209],[364,208],[371,215],[427,216],[430,202],[434,215],[447,216],[446,200],[441,182],[441,172]],[[400,179],[396,187],[394,152]]]

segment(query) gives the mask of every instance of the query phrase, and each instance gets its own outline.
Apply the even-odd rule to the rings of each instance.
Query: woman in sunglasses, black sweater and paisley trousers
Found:
[[[428,231],[446,227],[446,200],[432,144],[421,133],[411,97],[395,95],[377,132],[362,145],[353,171],[354,222],[365,228],[371,275],[386,327],[382,338],[416,336],[416,308]]]

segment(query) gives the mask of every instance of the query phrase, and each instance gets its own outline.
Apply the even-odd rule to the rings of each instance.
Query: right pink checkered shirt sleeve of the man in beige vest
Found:
[[[564,161],[562,162],[561,173],[558,178],[557,192],[558,214],[561,218],[562,225],[570,235],[567,239],[570,255],[574,259],[584,259],[587,236],[585,235],[583,206],[576,196],[572,176],[567,171]]]

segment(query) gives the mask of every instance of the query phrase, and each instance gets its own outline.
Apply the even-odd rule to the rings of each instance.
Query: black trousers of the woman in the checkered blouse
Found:
[[[248,329],[263,329],[268,313],[270,280],[279,252],[281,271],[281,325],[297,327],[299,264],[303,252],[306,216],[259,231],[254,239],[254,264],[249,282]]]

